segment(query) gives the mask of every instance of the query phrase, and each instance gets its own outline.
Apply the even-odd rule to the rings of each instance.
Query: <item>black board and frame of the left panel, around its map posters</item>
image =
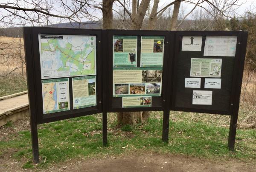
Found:
[[[44,79],[41,79],[38,34],[96,36],[96,106],[73,109],[72,78],[78,76],[72,76],[65,77],[69,79],[70,110],[43,113],[42,80]],[[102,112],[102,30],[28,27],[24,28],[24,42],[30,113],[36,118],[37,124]]]

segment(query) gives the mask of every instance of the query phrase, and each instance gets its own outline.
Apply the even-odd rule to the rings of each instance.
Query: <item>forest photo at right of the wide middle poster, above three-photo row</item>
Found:
[[[162,70],[142,70],[142,82],[161,82]]]

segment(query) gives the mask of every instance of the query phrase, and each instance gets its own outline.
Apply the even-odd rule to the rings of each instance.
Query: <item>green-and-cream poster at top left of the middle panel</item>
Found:
[[[113,68],[137,67],[137,36],[113,36]]]

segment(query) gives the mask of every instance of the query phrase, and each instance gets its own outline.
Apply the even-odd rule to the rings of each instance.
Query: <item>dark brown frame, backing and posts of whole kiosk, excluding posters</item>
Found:
[[[97,105],[73,109],[72,79],[69,78],[70,110],[43,114],[41,65],[38,34],[47,35],[93,35],[96,36],[96,101]],[[162,71],[162,93],[152,97],[151,107],[122,108],[122,98],[113,97],[113,36],[137,36],[137,67],[140,67],[141,36],[164,36],[164,58]],[[183,36],[202,36],[201,51],[181,51]],[[237,36],[236,56],[204,56],[206,36]],[[102,113],[103,145],[107,145],[107,113],[129,111],[163,111],[162,140],[168,142],[170,110],[230,115],[228,148],[234,149],[239,97],[244,69],[247,32],[243,31],[134,31],[95,30],[71,28],[28,27],[23,29],[26,70],[29,93],[30,126],[33,161],[39,162],[37,125],[78,116]],[[184,88],[184,79],[189,77],[191,58],[221,58],[221,89],[214,89],[211,106],[192,105],[192,88]],[[225,74],[226,73],[226,74]],[[55,78],[59,79],[59,78]],[[103,84],[105,83],[105,84]],[[204,78],[201,88],[204,89]],[[224,97],[221,97],[224,96]],[[220,99],[221,98],[221,99]],[[120,105],[121,102],[121,105]]]

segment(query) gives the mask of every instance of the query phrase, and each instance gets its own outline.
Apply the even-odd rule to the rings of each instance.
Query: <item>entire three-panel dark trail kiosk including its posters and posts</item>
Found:
[[[230,115],[234,149],[247,44],[243,31],[24,28],[34,162],[37,124],[102,113],[170,110]]]

